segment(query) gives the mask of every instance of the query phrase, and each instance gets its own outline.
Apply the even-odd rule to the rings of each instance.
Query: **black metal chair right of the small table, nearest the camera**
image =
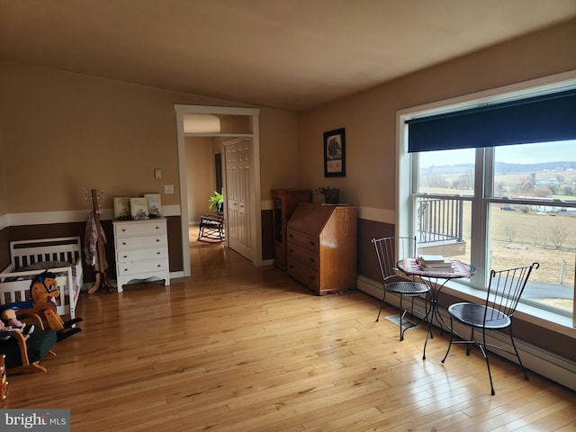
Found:
[[[490,362],[488,361],[488,347],[496,348],[500,351],[506,352],[511,356],[518,358],[518,364],[524,373],[524,378],[527,380],[528,375],[522,360],[518,354],[518,349],[514,343],[514,336],[512,335],[512,318],[518,306],[520,296],[524,292],[528,277],[532,270],[538,268],[538,263],[533,263],[531,266],[523,266],[510,268],[507,270],[491,271],[490,282],[488,284],[488,293],[484,304],[477,304],[473,302],[460,302],[455,303],[448,307],[450,314],[450,344],[446,350],[446,356],[442,359],[442,363],[446,361],[446,357],[450,352],[452,344],[466,344],[466,356],[470,356],[470,350],[475,345],[482,351],[482,356],[486,360],[488,367],[488,376],[490,377],[491,394],[495,394],[494,385],[492,384],[492,374],[490,371]],[[464,326],[471,328],[470,338],[467,340],[454,341],[454,320]],[[474,330],[482,329],[482,339],[478,340],[474,337]],[[509,351],[505,347],[498,347],[486,343],[486,330],[500,330],[509,329],[510,341],[514,352]],[[457,334],[456,334],[457,335]]]

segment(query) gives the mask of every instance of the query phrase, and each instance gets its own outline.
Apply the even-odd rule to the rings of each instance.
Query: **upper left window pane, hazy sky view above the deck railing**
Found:
[[[419,153],[419,193],[472,195],[473,148]]]

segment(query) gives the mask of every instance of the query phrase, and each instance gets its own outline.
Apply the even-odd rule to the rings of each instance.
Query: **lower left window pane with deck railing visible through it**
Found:
[[[419,254],[470,263],[472,202],[420,197],[417,208]]]

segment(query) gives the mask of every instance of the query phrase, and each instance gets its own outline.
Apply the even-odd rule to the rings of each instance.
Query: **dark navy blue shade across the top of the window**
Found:
[[[576,139],[576,89],[406,123],[409,152]]]

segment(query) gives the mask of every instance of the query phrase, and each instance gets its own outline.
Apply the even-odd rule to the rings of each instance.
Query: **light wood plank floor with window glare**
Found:
[[[191,234],[194,238],[194,234]],[[379,302],[312,295],[272,266],[193,242],[193,276],[82,294],[83,332],[46,374],[9,375],[2,408],[68,408],[71,430],[573,431],[576,394],[423,329],[398,341]],[[393,315],[386,310],[384,315]]]

